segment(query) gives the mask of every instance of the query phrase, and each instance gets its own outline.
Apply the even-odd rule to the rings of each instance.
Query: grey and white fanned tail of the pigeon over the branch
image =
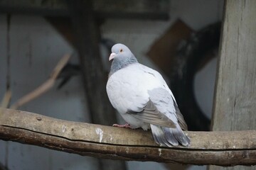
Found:
[[[177,146],[180,143],[183,146],[190,144],[189,138],[185,135],[181,127],[177,125],[176,128],[163,128],[159,125],[150,125],[154,140],[159,145],[167,147]]]

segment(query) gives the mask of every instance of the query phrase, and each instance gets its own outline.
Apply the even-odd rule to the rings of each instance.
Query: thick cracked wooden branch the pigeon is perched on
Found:
[[[1,109],[0,139],[105,159],[215,164],[256,164],[256,130],[187,132],[189,147],[160,147],[151,132],[75,123]]]

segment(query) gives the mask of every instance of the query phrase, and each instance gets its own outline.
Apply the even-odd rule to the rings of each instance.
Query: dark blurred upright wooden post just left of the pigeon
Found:
[[[117,116],[107,98],[107,73],[103,70],[100,57],[100,30],[92,11],[92,3],[90,0],[67,0],[67,3],[73,21],[92,123],[113,125],[117,123]],[[126,169],[125,162],[121,161],[99,159],[99,163],[102,170]]]

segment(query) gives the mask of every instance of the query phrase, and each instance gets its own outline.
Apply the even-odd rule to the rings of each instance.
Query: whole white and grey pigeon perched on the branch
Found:
[[[161,74],[139,64],[129,48],[122,44],[112,47],[109,60],[113,61],[107,96],[127,122],[113,126],[151,129],[159,145],[171,147],[180,143],[188,146],[190,140],[183,132],[187,125]]]

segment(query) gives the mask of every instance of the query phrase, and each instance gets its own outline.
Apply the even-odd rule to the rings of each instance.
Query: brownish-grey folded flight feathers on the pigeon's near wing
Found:
[[[176,128],[175,123],[166,115],[159,112],[151,100],[146,103],[146,106],[144,106],[142,111],[137,112],[128,110],[127,113],[134,116],[134,118],[142,120],[145,123],[160,125],[167,128]]]

